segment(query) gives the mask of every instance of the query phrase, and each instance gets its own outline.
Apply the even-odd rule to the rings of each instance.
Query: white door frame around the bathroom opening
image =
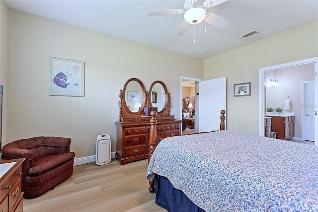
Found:
[[[288,67],[294,67],[294,66],[299,66],[299,65],[304,65],[304,64],[314,64],[314,78],[315,78],[315,145],[318,145],[318,116],[317,116],[317,107],[318,107],[318,57],[315,58],[309,58],[305,60],[300,60],[300,61],[295,61],[291,63],[285,63],[285,64],[280,64],[276,66],[271,66],[271,67],[266,67],[259,69],[259,135],[264,135],[264,116],[265,116],[265,81],[264,81],[264,72],[266,71],[271,71],[271,70],[277,70],[277,69],[282,69],[282,68],[288,68]]]

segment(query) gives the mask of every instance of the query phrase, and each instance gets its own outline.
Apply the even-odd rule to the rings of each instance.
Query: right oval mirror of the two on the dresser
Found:
[[[164,83],[155,81],[149,89],[149,105],[151,107],[158,107],[158,113],[168,107],[168,91]]]

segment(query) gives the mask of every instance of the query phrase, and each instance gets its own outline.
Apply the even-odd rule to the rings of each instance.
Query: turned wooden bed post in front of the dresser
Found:
[[[156,142],[157,142],[157,111],[153,110],[151,111],[150,115],[152,116],[151,120],[150,120],[150,140],[149,140],[149,153],[148,153],[148,163],[151,159],[151,156],[153,156],[154,150],[156,148]],[[149,181],[149,191],[151,193],[155,192],[155,184],[154,181]]]

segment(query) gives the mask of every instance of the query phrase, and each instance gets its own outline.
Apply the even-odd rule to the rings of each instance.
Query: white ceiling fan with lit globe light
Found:
[[[175,15],[184,13],[184,21],[178,31],[178,36],[181,36],[187,31],[191,24],[198,24],[203,20],[214,26],[226,27],[229,24],[227,20],[217,14],[206,11],[207,8],[216,6],[225,1],[227,0],[186,0],[184,2],[184,9],[163,9],[148,12],[148,15]]]

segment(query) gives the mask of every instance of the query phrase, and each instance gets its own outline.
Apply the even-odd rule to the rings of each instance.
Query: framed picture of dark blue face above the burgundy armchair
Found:
[[[84,96],[85,63],[50,57],[50,95]]]

